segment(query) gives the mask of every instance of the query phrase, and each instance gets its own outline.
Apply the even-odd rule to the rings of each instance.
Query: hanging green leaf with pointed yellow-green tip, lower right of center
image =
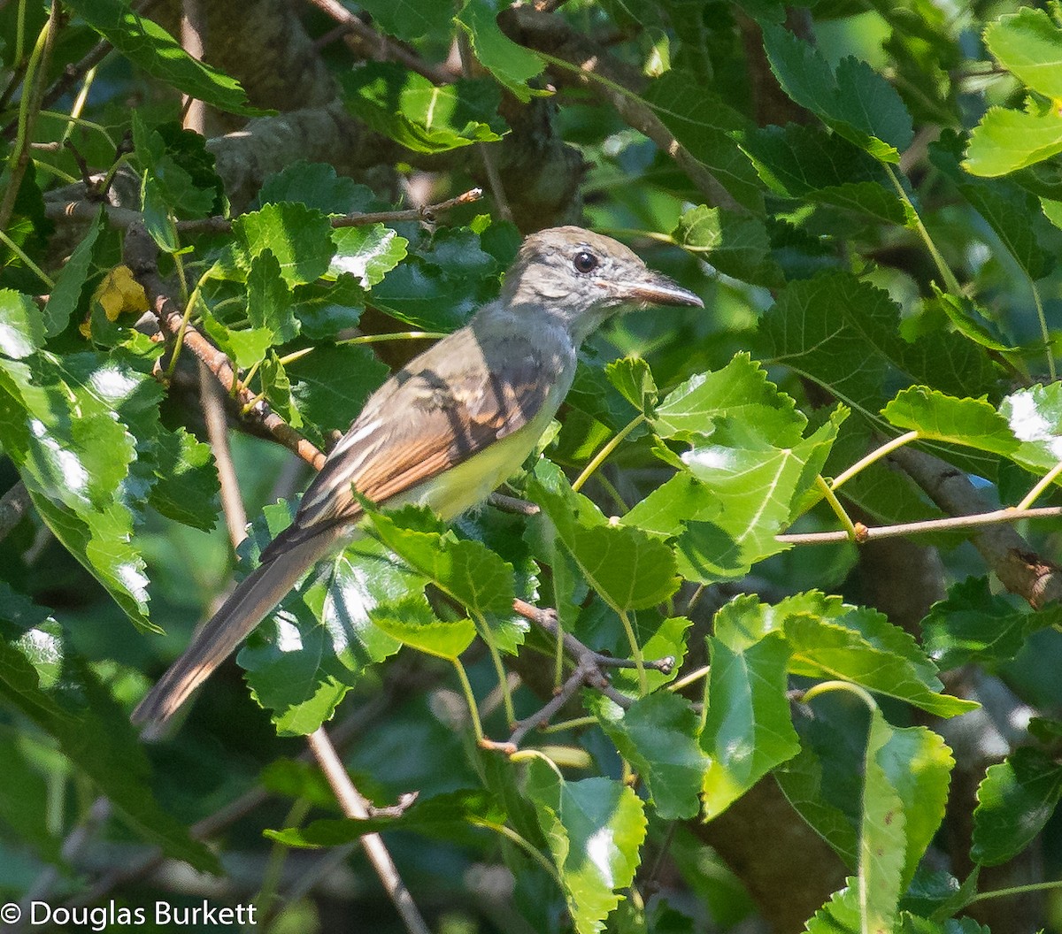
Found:
[[[769,634],[735,652],[708,637],[712,669],[705,695],[707,716],[701,747],[710,762],[704,773],[704,816],[726,810],[775,765],[800,751],[786,696],[789,647]]]

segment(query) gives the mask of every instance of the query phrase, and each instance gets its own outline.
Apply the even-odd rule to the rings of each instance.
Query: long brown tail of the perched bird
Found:
[[[274,542],[279,543],[279,539]],[[162,731],[166,722],[188,699],[188,695],[228,658],[307,569],[335,547],[336,536],[324,532],[287,548],[267,551],[264,564],[240,582],[221,609],[195,634],[184,654],[133,711],[133,722],[143,724],[145,739],[157,737]]]

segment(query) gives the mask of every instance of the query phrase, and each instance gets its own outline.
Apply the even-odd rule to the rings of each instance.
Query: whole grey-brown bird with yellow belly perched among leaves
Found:
[[[614,314],[649,305],[704,307],[610,237],[575,226],[528,236],[499,297],[370,396],[291,524],[134,710],[143,736],[161,734],[302,576],[358,536],[363,499],[427,505],[444,520],[483,502],[534,450],[582,343]]]

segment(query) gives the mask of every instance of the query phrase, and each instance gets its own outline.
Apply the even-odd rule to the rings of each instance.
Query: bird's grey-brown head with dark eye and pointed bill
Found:
[[[506,275],[501,297],[511,307],[548,308],[577,343],[624,308],[704,307],[622,243],[582,227],[551,227],[528,237]]]

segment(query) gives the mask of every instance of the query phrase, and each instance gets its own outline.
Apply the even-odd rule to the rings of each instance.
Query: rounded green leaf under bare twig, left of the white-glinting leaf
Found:
[[[233,221],[233,233],[247,261],[271,250],[289,286],[312,282],[328,272],[335,253],[331,232],[321,211],[287,202],[266,205]]]

